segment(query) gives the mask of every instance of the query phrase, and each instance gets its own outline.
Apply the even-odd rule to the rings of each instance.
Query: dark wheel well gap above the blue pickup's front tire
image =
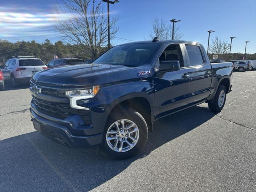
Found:
[[[134,110],[136,110],[137,112],[139,112],[145,119],[147,126],[148,126],[148,130],[150,132],[152,132],[151,108],[150,108],[150,104],[146,98],[136,97],[136,98],[124,100],[124,101],[120,102],[119,104],[117,104],[116,106],[114,106],[114,108],[110,111],[110,114],[114,110],[120,110],[124,107],[130,107],[130,108],[133,108]]]

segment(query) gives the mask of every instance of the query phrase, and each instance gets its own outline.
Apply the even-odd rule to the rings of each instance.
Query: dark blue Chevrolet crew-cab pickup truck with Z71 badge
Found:
[[[130,158],[145,146],[154,121],[203,102],[220,112],[232,72],[232,62],[210,64],[196,42],[122,44],[92,64],[34,74],[30,114],[34,128],[60,144]]]

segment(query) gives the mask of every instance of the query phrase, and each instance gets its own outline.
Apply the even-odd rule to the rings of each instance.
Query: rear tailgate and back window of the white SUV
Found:
[[[46,65],[40,59],[20,59],[20,77],[30,77],[34,73],[43,70],[43,67],[46,67]]]

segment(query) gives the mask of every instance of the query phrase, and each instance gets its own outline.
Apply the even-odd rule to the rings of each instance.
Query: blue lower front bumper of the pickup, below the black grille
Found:
[[[102,142],[102,134],[90,136],[72,134],[67,128],[70,126],[70,122],[42,114],[33,107],[33,104],[31,104],[30,115],[34,128],[59,144],[71,148],[94,148]]]

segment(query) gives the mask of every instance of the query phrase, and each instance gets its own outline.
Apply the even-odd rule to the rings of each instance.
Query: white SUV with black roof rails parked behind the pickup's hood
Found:
[[[47,69],[47,66],[41,59],[33,56],[16,56],[9,59],[1,71],[4,81],[12,82],[12,86],[16,86],[21,82],[29,82],[34,73],[44,69]]]

